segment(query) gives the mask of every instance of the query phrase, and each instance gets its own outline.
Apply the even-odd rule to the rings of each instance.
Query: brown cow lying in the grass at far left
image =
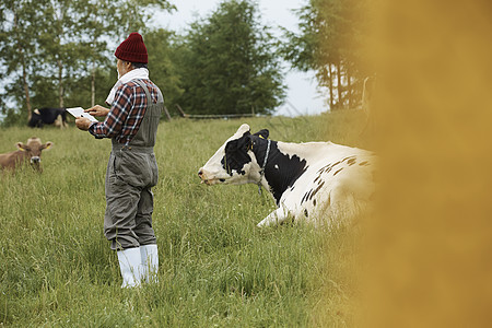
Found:
[[[30,162],[34,169],[43,172],[40,167],[40,153],[45,149],[49,149],[52,142],[48,141],[42,144],[39,138],[33,137],[27,140],[27,143],[17,142],[15,144],[17,151],[5,154],[0,154],[0,169],[12,169]]]

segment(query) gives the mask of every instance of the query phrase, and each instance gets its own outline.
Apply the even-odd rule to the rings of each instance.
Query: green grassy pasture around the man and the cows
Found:
[[[345,327],[354,233],[256,224],[274,209],[256,185],[207,187],[198,168],[242,122],[273,140],[364,147],[359,112],[162,122],[154,191],[159,283],[121,290],[103,235],[109,140],[73,127],[0,130],[0,153],[36,136],[44,173],[0,177],[0,326]]]

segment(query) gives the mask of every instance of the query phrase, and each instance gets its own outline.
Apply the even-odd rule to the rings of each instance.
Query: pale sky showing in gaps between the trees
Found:
[[[162,27],[184,34],[190,23],[209,16],[221,0],[172,0],[177,8],[172,14],[164,13],[156,20]],[[278,26],[297,32],[297,16],[292,10],[300,9],[307,0],[257,0],[261,22],[280,35]],[[288,65],[285,65],[289,68]],[[277,109],[277,115],[316,115],[328,110],[323,96],[317,91],[314,72],[290,69],[285,75],[288,86],[285,103]]]

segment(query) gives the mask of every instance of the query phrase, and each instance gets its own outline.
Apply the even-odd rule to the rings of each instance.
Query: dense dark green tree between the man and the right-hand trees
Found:
[[[178,62],[179,102],[190,114],[268,114],[284,97],[280,61],[269,28],[251,1],[223,1],[195,22]]]

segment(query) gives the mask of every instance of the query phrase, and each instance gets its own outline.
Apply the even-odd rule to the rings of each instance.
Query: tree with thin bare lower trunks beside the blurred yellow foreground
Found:
[[[329,90],[331,109],[354,107],[371,69],[365,62],[368,0],[309,0],[297,11],[301,33],[284,31],[283,57],[300,70],[313,69]]]

